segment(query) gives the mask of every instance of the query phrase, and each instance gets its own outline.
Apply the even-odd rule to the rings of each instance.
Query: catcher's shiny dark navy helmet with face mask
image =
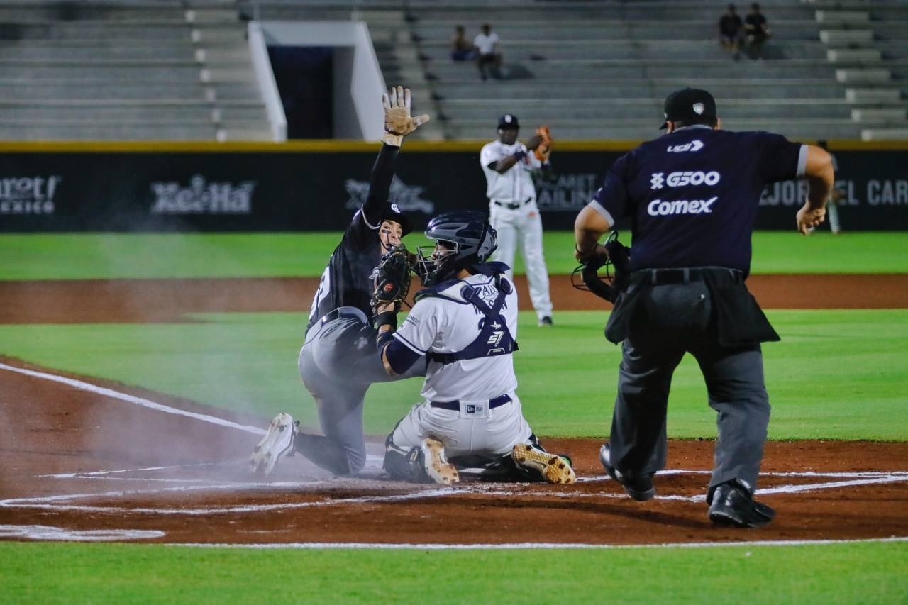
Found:
[[[498,233],[483,213],[461,211],[433,218],[426,226],[426,237],[449,249],[438,253],[435,246],[419,246],[418,273],[423,285],[430,286],[489,260],[497,247]]]

